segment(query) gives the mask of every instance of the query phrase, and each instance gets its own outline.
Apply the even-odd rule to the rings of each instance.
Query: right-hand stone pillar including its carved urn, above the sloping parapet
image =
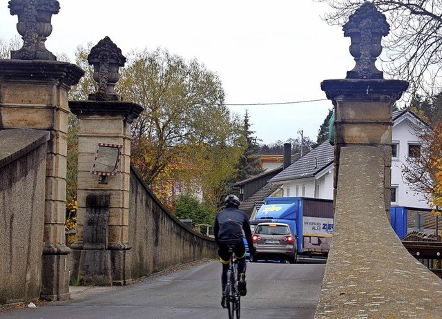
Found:
[[[321,84],[335,107],[334,122],[334,195],[338,184],[340,148],[376,146],[382,149],[384,162],[385,211],[390,216],[392,161],[392,106],[407,89],[406,81],[385,80],[376,69],[381,54],[381,38],[390,26],[372,3],[366,2],[343,26],[351,37],[350,53],[356,61],[346,79],[325,80]],[[356,179],[356,177],[355,177]]]

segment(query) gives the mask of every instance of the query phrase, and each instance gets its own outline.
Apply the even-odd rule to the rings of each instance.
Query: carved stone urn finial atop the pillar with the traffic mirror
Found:
[[[94,66],[93,77],[98,84],[97,93],[90,94],[89,99],[120,101],[122,98],[115,93],[114,86],[119,79],[118,68],[126,63],[122,50],[105,37],[90,50],[88,63]]]

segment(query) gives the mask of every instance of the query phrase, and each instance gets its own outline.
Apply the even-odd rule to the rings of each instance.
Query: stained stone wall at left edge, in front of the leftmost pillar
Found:
[[[0,131],[0,305],[40,297],[49,137]]]

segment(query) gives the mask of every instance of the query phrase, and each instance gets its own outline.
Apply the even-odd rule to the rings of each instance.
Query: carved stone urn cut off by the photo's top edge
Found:
[[[44,42],[52,33],[50,19],[57,14],[60,4],[57,0],[10,0],[10,14],[19,17],[17,31],[23,39],[23,47],[11,51],[12,59],[22,60],[57,60],[46,49]]]

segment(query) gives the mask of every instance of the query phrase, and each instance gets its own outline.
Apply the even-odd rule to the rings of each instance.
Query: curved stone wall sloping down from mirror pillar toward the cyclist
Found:
[[[212,238],[192,231],[167,211],[131,167],[129,243],[132,278],[216,257]]]

